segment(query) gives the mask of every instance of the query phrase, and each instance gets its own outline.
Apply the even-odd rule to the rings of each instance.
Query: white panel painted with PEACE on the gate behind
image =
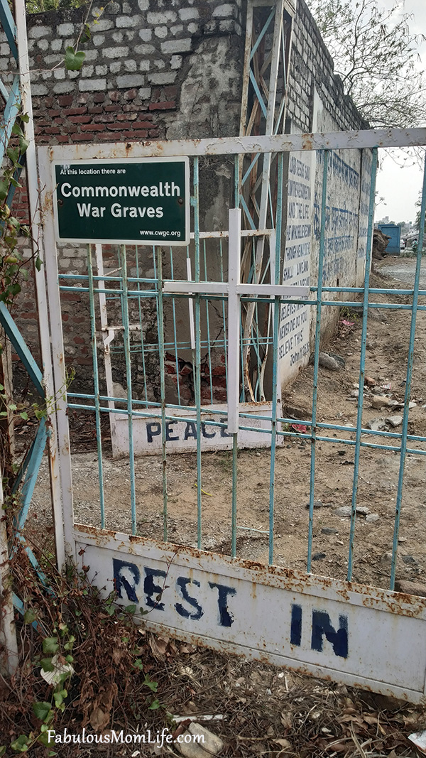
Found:
[[[209,408],[210,406],[207,406]],[[202,413],[202,450],[228,450],[232,449],[232,434],[227,433],[227,428],[212,424],[205,424],[205,421],[219,421],[227,424],[227,406],[211,406],[217,413]],[[136,455],[152,455],[161,453],[161,411],[160,409],[147,409],[143,412],[152,412],[152,416],[140,418],[133,415],[133,449]],[[256,416],[265,416],[259,418],[241,418],[240,426],[252,427],[255,431],[238,430],[238,446],[247,447],[270,447],[271,446],[271,403],[269,402],[251,402],[240,403],[240,414],[249,413]],[[157,414],[157,415],[155,415]],[[196,411],[193,409],[173,409],[167,408],[166,415],[176,416],[176,421],[166,422],[166,450],[168,453],[191,453],[196,450],[197,430],[196,430]],[[186,419],[180,421],[180,418]],[[129,424],[127,415],[114,413],[111,424],[111,442],[114,456],[120,456],[129,453]],[[282,437],[278,437],[278,444],[282,444]]]

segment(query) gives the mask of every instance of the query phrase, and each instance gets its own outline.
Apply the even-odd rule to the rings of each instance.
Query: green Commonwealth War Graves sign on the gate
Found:
[[[56,234],[63,242],[188,245],[188,158],[53,164]]]

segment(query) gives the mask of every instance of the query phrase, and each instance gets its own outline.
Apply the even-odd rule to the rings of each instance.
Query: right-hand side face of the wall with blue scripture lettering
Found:
[[[287,131],[336,132],[367,129],[352,100],[334,76],[333,60],[315,21],[299,0],[293,26]],[[287,174],[287,232],[283,282],[318,283],[321,195],[324,160],[321,153],[293,153]],[[324,287],[359,286],[364,278],[371,153],[334,151],[327,173]],[[327,293],[327,299],[343,299]],[[321,343],[334,334],[338,310],[321,312]],[[286,384],[309,362],[316,310],[287,305],[280,319],[280,377]]]

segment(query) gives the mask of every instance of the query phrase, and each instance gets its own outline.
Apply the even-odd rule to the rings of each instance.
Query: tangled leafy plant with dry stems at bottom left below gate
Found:
[[[6,512],[13,523],[13,511]],[[46,588],[17,541],[11,559],[14,590],[25,600],[20,629],[20,666],[7,681],[8,707],[0,711],[0,756],[33,751],[55,754],[49,731],[101,731],[114,710],[162,713],[158,681],[152,676],[149,641],[133,621],[135,606],[122,608],[112,593],[105,600],[87,580],[86,572],[68,564],[64,575],[55,562],[39,555],[46,566]],[[136,709],[136,711],[135,711]],[[154,717],[152,715],[151,721]],[[3,738],[4,739],[4,738]],[[42,751],[42,752],[40,752]]]

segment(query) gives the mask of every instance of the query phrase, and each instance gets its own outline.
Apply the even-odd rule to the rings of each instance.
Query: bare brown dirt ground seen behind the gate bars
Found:
[[[371,286],[410,287],[414,281],[415,260],[385,258],[372,275]],[[426,288],[426,262],[422,270]],[[419,304],[426,298],[421,297]],[[409,296],[371,295],[370,302],[410,302]],[[356,389],[359,381],[359,352],[362,315],[341,312],[339,330],[332,343],[324,346],[343,357],[345,368],[330,371],[320,368],[318,386],[318,421],[342,426],[356,424]],[[365,387],[362,425],[372,419],[402,414],[398,409],[372,408],[374,395],[403,401],[406,380],[411,312],[371,309],[365,374],[371,384]],[[344,324],[343,320],[350,325]],[[426,312],[418,312],[415,332],[415,359],[409,411],[409,434],[426,435]],[[283,415],[301,423],[312,412],[313,367],[309,365],[283,396]],[[80,415],[71,428],[78,430]],[[80,424],[81,427],[81,424]],[[401,424],[387,429],[401,431]],[[292,431],[290,429],[290,431]],[[354,447],[340,439],[354,439],[344,431],[324,431],[330,437],[317,443],[315,465],[314,540],[312,571],[320,575],[346,578],[349,547],[349,518],[335,511],[350,506],[354,473]],[[76,521],[100,525],[99,478],[96,441],[93,431],[81,439],[78,431],[71,435]],[[334,440],[336,438],[336,440]],[[362,440],[370,440],[363,435]],[[397,440],[374,437],[373,442],[396,445]],[[129,464],[114,460],[108,453],[108,428],[105,429],[104,459],[106,527],[130,531]],[[412,449],[426,449],[424,443],[410,442]],[[277,449],[275,468],[274,563],[287,568],[306,568],[309,512],[309,440],[284,438]],[[238,455],[237,487],[237,555],[266,562],[268,560],[269,471],[268,449],[241,450]],[[422,579],[426,568],[426,471],[424,456],[409,454],[403,488],[403,506],[399,530],[397,577]],[[47,462],[36,487],[33,507],[49,509]],[[168,456],[168,529],[169,540],[196,545],[196,456]],[[362,448],[359,465],[358,506],[371,512],[358,515],[353,579],[380,587],[389,586],[390,556],[399,476],[399,453],[392,450]],[[231,453],[202,454],[202,547],[218,553],[230,553]],[[136,504],[138,533],[162,538],[162,464],[155,456],[136,459]],[[243,528],[259,531],[246,531]],[[260,532],[260,533],[259,533]]]

